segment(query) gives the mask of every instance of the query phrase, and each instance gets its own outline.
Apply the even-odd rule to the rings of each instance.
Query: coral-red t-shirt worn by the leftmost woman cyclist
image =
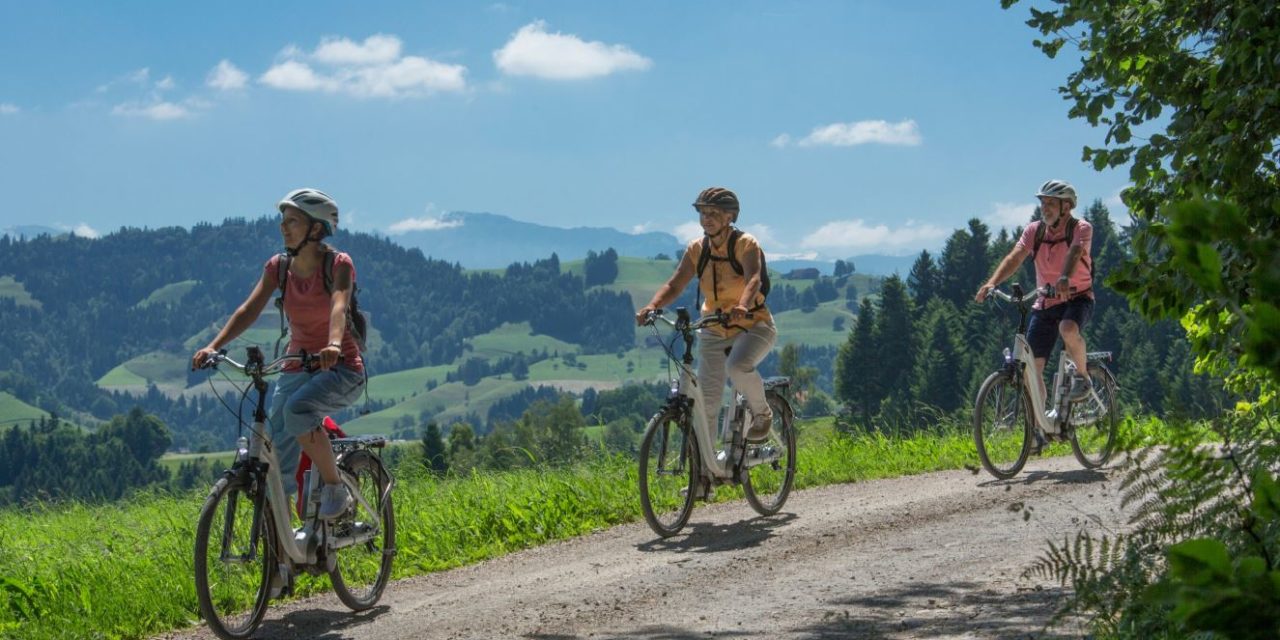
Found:
[[[276,253],[262,268],[266,283],[276,289],[279,288],[279,283],[275,279],[275,274],[279,269],[279,262],[280,256]],[[351,256],[338,252],[333,260],[334,274],[343,265],[351,268],[351,280],[356,282],[356,265],[351,261]],[[297,353],[306,351],[307,353],[317,353],[329,344],[330,298],[329,293],[324,291],[324,268],[317,266],[315,273],[308,278],[289,271],[285,287],[288,287],[288,291],[284,294],[284,315],[289,319],[288,352]],[[347,328],[342,334],[342,364],[348,369],[355,369],[356,371],[365,370],[365,362],[360,357],[360,347],[356,346],[355,337],[351,335],[351,328]],[[285,367],[285,370],[294,369],[300,369],[297,362],[292,362]]]

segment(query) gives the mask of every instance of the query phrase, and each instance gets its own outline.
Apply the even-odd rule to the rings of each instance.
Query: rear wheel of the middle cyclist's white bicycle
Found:
[[[765,399],[773,410],[773,426],[768,442],[746,445],[742,492],[756,513],[772,516],[787,502],[796,477],[796,433],[786,398],[769,393]]]

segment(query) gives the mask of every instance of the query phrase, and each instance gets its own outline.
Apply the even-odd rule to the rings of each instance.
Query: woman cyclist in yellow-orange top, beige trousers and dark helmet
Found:
[[[764,380],[755,366],[769,353],[778,337],[762,292],[764,252],[750,233],[733,227],[739,201],[732,191],[723,187],[703,189],[694,209],[703,227],[703,238],[685,247],[676,271],[636,314],[636,323],[643,324],[650,311],[675,302],[689,282],[698,276],[698,287],[707,298],[701,314],[719,311],[730,320],[730,326],[710,325],[699,335],[698,380],[703,388],[707,424],[717,421],[727,374],[733,388],[746,398],[751,412],[746,440],[763,442],[769,436],[773,412],[764,399]],[[705,257],[704,251],[709,252]]]

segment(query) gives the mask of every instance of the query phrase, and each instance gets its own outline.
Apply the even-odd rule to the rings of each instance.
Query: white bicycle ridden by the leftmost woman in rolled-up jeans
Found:
[[[251,438],[241,438],[236,461],[210,489],[196,526],[196,598],[200,614],[219,637],[239,640],[257,628],[271,599],[293,590],[293,576],[329,573],[338,598],[353,611],[378,603],[392,573],[396,556],[396,515],[392,509],[392,475],[372,449],[380,435],[332,440],[338,472],[355,506],[332,522],[316,517],[320,474],[306,472],[303,525],[293,529],[289,499],[280,480],[271,435],[266,429],[266,380],[285,362],[307,366],[306,353],[283,356],[265,364],[262,351],[248,348],[246,364],[225,352],[206,367],[229,365],[251,378],[257,390]],[[247,390],[246,390],[247,392]]]

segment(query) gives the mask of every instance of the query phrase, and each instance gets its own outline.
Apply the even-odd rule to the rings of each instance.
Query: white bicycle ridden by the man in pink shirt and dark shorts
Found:
[[[1055,411],[1046,412],[1043,392],[1036,379],[1036,357],[1027,342],[1027,315],[1037,296],[1052,297],[1053,292],[1047,285],[1028,294],[1018,284],[1011,289],[1012,293],[991,291],[992,296],[1014,303],[1020,319],[1012,349],[1005,348],[1004,365],[982,383],[974,403],[973,439],[982,466],[998,479],[1012,477],[1027,465],[1034,438],[1070,442],[1075,460],[1085,468],[1106,465],[1119,425],[1119,387],[1105,364],[1111,361],[1111,352],[1085,355],[1093,388],[1084,399],[1073,401],[1070,387],[1076,367],[1064,351],[1053,374]]]

